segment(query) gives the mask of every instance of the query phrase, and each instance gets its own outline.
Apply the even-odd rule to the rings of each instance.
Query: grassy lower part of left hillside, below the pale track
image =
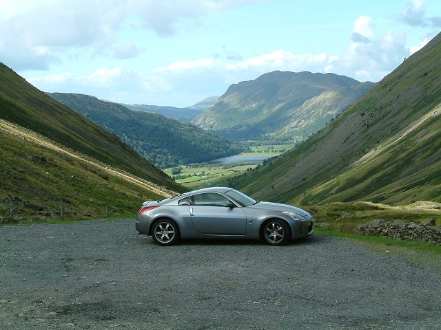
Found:
[[[100,166],[0,130],[0,223],[14,219],[87,219],[135,214],[161,195],[121,179]]]

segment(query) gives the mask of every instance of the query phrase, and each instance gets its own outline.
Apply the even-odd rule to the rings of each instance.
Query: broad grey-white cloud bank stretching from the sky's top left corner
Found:
[[[133,58],[140,53],[136,40],[116,45],[116,36],[127,24],[172,36],[183,20],[197,22],[209,11],[246,2],[250,1],[0,0],[0,58],[19,71],[48,69],[66,50]]]

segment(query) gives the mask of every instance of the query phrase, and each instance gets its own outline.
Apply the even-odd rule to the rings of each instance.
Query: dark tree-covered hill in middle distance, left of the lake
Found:
[[[48,94],[85,115],[161,168],[206,162],[243,150],[223,137],[158,113],[132,111],[121,104],[82,94]]]

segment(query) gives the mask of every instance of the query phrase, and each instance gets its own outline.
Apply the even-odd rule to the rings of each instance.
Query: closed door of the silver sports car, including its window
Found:
[[[216,192],[192,196],[190,215],[196,230],[203,234],[244,235],[247,229],[245,211],[225,206],[227,197]]]

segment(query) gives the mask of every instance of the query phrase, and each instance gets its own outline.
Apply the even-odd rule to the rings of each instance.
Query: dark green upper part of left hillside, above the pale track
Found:
[[[46,96],[1,63],[0,118],[155,184],[175,191],[185,189],[146,162],[118,137]]]

